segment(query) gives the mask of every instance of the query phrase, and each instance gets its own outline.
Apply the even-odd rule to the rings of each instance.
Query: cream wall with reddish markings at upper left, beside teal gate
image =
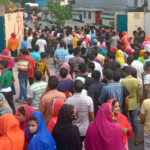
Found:
[[[12,32],[16,33],[21,43],[24,36],[23,12],[5,14],[4,18],[6,46]]]

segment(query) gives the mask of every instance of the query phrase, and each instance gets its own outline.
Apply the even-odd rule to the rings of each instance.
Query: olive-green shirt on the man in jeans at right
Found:
[[[129,110],[136,110],[141,97],[140,81],[129,75],[125,77],[121,85],[126,87],[130,93],[128,96]]]

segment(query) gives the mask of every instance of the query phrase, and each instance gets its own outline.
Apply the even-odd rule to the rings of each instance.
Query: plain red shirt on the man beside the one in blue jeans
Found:
[[[30,68],[28,69],[28,78],[33,78],[34,75],[34,58],[32,56],[26,55],[26,59],[28,59]]]

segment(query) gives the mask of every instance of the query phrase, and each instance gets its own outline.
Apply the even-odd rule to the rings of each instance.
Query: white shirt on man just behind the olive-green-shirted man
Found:
[[[142,74],[144,72],[143,64],[139,60],[134,60],[131,64],[131,67],[137,70],[137,77],[142,85]]]

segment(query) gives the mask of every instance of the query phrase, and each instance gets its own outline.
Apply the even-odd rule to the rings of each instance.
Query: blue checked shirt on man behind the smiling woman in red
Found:
[[[120,109],[123,102],[123,88],[120,84],[114,81],[108,82],[102,89],[102,93],[99,97],[99,103],[106,103],[110,99],[116,99],[120,103]]]

